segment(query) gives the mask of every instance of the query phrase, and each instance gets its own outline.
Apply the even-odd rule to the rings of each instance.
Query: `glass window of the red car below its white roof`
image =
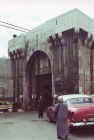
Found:
[[[93,103],[92,98],[89,97],[78,97],[71,98],[68,100],[69,104],[83,104],[83,103]]]

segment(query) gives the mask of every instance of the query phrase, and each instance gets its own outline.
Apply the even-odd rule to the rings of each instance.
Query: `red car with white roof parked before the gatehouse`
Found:
[[[91,96],[70,94],[61,98],[68,105],[70,127],[94,126],[94,101]],[[54,111],[55,105],[48,107],[47,116],[52,122],[55,122]]]

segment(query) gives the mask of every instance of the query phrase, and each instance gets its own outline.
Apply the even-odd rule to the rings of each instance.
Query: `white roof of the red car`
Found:
[[[68,95],[58,96],[58,98],[62,98],[64,101],[67,99],[77,98],[77,97],[91,97],[91,96],[86,94],[68,94]]]

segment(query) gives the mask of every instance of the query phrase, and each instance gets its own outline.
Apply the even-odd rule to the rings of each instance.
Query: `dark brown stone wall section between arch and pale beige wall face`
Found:
[[[52,67],[55,94],[79,93],[77,34],[74,29],[71,29],[62,32],[62,36],[58,34],[55,34],[55,37],[50,36],[49,42],[53,52]]]

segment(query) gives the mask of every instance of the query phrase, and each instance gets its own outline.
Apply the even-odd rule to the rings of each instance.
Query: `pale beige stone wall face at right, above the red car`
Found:
[[[79,92],[90,94],[93,90],[92,35],[79,30]]]

